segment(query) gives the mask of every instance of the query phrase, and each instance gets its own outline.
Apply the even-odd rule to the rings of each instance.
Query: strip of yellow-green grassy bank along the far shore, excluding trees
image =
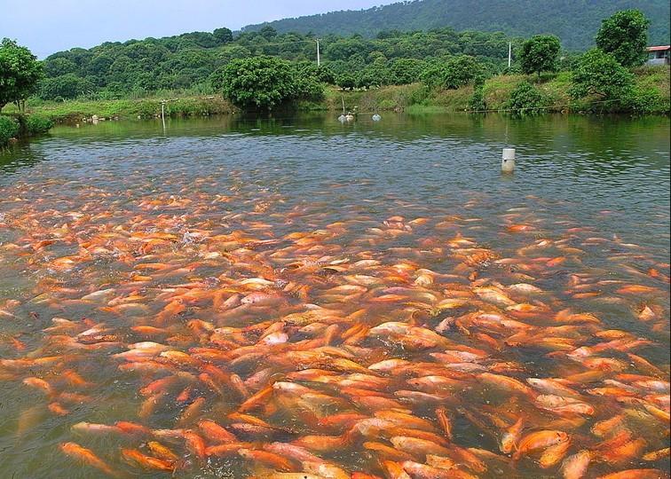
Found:
[[[486,80],[483,95],[487,110],[509,109],[510,94],[521,82],[532,82],[544,98],[543,110],[549,112],[605,113],[624,111],[632,113],[669,113],[669,68],[643,67],[635,72],[636,103],[644,109],[630,109],[620,104],[604,103],[598,98],[574,100],[569,95],[571,75],[562,72],[544,75],[541,79],[525,75],[501,75]],[[387,86],[372,90],[341,91],[328,87],[320,102],[300,102],[302,111],[352,110],[356,106],[361,113],[375,111],[404,111],[410,114],[455,112],[470,109],[472,86],[458,90],[429,90],[422,84]],[[4,113],[11,112],[8,106]],[[230,114],[236,108],[220,95],[184,96],[165,104],[169,116]],[[100,118],[134,119],[151,118],[161,114],[161,98],[115,99],[115,100],[69,100],[46,102],[32,99],[28,102],[28,113],[43,115],[55,122],[82,122],[93,115]]]

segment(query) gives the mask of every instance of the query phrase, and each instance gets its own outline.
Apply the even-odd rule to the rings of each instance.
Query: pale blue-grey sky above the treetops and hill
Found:
[[[0,0],[0,37],[38,57],[73,47],[168,36],[398,0]]]

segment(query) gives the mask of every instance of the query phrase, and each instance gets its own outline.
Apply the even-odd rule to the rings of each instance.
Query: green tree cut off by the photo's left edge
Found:
[[[42,75],[42,63],[28,48],[4,38],[0,43],[0,110],[10,102],[19,104],[28,98]]]

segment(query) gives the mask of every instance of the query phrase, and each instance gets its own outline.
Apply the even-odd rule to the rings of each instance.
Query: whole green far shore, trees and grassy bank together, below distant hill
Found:
[[[309,59],[312,35],[267,26],[103,43],[43,61],[5,39],[0,145],[41,134],[53,122],[152,118],[162,106],[169,116],[343,106],[668,114],[668,65],[643,65],[649,25],[642,12],[616,12],[603,21],[596,48],[582,53],[562,50],[554,35],[522,39],[452,28],[383,31],[371,39],[329,35],[319,65]]]

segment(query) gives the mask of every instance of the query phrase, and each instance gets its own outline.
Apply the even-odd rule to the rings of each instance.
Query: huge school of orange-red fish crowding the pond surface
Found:
[[[485,227],[478,196],[336,220],[234,172],[170,186],[0,198],[12,441],[63,431],[82,476],[667,477],[645,247],[527,208]]]

